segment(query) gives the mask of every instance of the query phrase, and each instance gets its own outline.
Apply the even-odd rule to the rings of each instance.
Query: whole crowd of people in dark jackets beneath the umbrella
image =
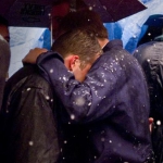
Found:
[[[162,163],[162,42],[130,54],[77,2],[53,3],[51,50],[30,50],[8,80],[0,20],[0,162]]]

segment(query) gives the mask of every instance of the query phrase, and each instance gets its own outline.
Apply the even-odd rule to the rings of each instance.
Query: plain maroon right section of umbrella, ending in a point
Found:
[[[100,13],[103,23],[117,22],[147,9],[138,0],[85,0],[85,2]]]

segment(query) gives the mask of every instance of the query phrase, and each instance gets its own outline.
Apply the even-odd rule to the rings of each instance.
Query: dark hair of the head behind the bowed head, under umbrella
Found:
[[[71,12],[63,17],[59,27],[59,36],[64,32],[75,28],[86,28],[98,38],[108,38],[108,30],[104,27],[100,15],[90,10]]]

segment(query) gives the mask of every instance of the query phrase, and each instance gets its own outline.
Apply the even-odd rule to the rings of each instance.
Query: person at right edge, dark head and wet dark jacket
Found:
[[[163,15],[149,16],[146,33],[135,50],[134,57],[143,68],[152,117],[152,143],[156,163],[163,162]],[[143,28],[141,30],[143,33]]]

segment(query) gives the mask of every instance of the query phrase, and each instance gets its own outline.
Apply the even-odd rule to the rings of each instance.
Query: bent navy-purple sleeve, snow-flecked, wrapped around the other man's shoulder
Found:
[[[108,102],[108,108],[100,109],[100,106],[105,96],[109,96],[106,93],[112,93],[112,90],[108,91],[110,85],[104,80],[108,80],[108,83],[112,80],[112,84],[116,84],[116,79],[112,74],[109,75],[110,78],[103,78],[104,72],[99,73],[104,71],[103,67],[99,67],[96,71],[96,74],[93,74],[96,77],[87,76],[84,83],[79,83],[75,80],[74,75],[64,66],[63,61],[59,60],[57,53],[41,54],[37,60],[37,65],[41,70],[41,75],[50,79],[53,90],[74,122],[87,123],[98,121],[111,114],[108,108],[113,105],[114,101]]]

